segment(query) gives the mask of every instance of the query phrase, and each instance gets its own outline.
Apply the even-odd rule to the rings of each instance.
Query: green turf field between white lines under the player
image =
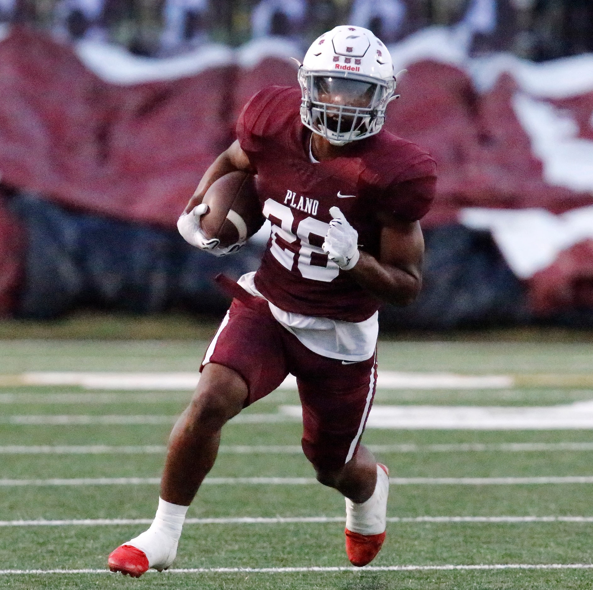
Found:
[[[0,341],[0,376],[26,371],[196,371],[207,342]],[[593,374],[593,344],[578,342],[381,342],[380,368],[462,374]],[[70,394],[65,397],[63,394]],[[100,394],[100,395],[99,395]],[[12,397],[11,397],[12,396]],[[102,396],[102,397],[101,397]],[[189,392],[88,391],[79,387],[0,387],[0,417],[44,415],[175,416]],[[377,405],[546,406],[593,399],[585,386],[501,390],[380,390]],[[283,390],[247,409],[276,413],[298,403]],[[1,480],[47,480],[160,475],[168,424],[10,424],[0,419]],[[314,476],[302,454],[272,446],[299,445],[301,427],[229,424],[212,477]],[[391,445],[377,453],[393,477],[593,476],[593,431],[455,431],[368,429],[364,442]],[[463,444],[484,447],[463,447]],[[545,443],[546,448],[500,446]],[[561,443],[589,443],[570,448]],[[7,448],[78,447],[61,453]],[[80,447],[152,445],[151,452],[80,452]],[[238,452],[260,445],[267,452]],[[396,447],[396,445],[412,445]],[[451,445],[442,448],[434,445]],[[405,450],[407,448],[407,450]],[[4,449],[4,450],[2,450]],[[481,449],[481,450],[480,450]],[[506,450],[505,450],[506,449]],[[404,452],[405,450],[405,452]],[[0,587],[223,588],[391,590],[591,588],[593,570],[409,569],[272,572],[146,573],[133,580],[110,573],[27,573],[6,570],[104,570],[107,554],[145,530],[145,524],[14,525],[9,521],[149,519],[158,486],[0,486]],[[234,522],[187,524],[176,569],[348,567],[343,522],[236,522],[240,517],[343,517],[344,502],[318,484],[205,485],[189,518]],[[593,563],[593,518],[588,521],[441,522],[416,517],[593,517],[593,483],[528,485],[393,485],[384,548],[372,566],[517,566]]]

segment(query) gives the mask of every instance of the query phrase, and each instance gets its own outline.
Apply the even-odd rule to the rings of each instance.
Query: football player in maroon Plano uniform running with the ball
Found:
[[[270,86],[244,107],[237,140],[200,181],[180,217],[187,242],[222,248],[200,230],[203,195],[228,172],[257,174],[272,232],[257,272],[227,281],[234,300],[206,351],[202,377],[171,432],[157,514],[109,567],[139,576],[173,562],[187,508],[211,470],[221,428],[292,373],[302,448],[317,479],[346,498],[346,552],[364,566],[385,538],[389,477],[361,444],[377,379],[381,302],[420,290],[418,220],[431,206],[435,163],[381,130],[396,89],[387,48],[340,26],[299,68],[301,91]]]

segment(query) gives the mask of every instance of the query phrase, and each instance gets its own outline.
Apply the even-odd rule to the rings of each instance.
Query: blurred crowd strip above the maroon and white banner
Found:
[[[0,0],[0,22],[29,23],[60,40],[98,39],[169,56],[204,43],[264,36],[307,47],[337,24],[385,43],[431,24],[469,33],[470,54],[508,51],[543,61],[593,51],[591,0]]]

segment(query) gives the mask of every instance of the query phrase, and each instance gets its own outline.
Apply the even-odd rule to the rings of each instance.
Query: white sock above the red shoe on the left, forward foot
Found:
[[[148,565],[164,569],[171,565],[177,554],[177,543],[189,506],[180,506],[158,499],[157,514],[148,531],[125,543],[144,551]]]

